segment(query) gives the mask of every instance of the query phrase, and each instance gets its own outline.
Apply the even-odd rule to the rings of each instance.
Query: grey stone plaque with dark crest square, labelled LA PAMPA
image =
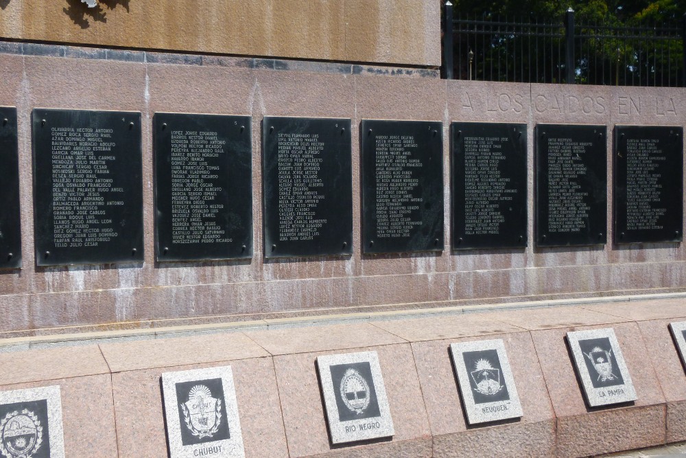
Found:
[[[637,400],[615,330],[567,332],[567,343],[589,407]]]

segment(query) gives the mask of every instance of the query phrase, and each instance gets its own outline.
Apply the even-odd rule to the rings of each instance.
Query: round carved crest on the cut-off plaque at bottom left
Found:
[[[31,458],[43,444],[43,426],[29,409],[12,411],[0,421],[0,453],[7,458]]]

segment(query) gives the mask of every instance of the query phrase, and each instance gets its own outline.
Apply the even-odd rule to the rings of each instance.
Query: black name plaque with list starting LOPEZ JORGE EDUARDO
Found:
[[[155,113],[158,261],[252,256],[250,117]]]

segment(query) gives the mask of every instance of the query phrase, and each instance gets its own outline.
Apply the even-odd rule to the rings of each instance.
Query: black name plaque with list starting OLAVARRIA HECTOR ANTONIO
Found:
[[[32,117],[36,264],[143,261],[141,113]]]

